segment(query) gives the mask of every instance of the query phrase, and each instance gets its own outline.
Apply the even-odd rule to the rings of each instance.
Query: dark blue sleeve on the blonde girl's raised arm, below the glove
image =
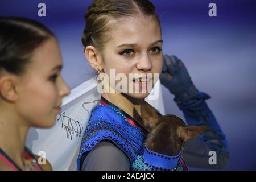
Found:
[[[174,101],[183,111],[187,125],[207,125],[208,129],[199,137],[189,140],[185,145],[184,158],[188,166],[203,168],[224,168],[229,163],[226,137],[205,100],[210,96],[203,92],[190,94]],[[216,151],[217,165],[209,165],[209,151]],[[189,159],[187,159],[189,156]],[[195,160],[193,160],[195,158]],[[200,159],[202,160],[200,162]]]

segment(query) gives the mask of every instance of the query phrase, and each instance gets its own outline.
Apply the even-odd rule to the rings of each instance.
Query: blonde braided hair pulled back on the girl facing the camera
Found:
[[[159,23],[155,6],[148,0],[94,0],[84,15],[86,21],[82,44],[102,50],[108,41],[108,32],[114,24],[112,19],[125,16],[148,15],[153,16]]]

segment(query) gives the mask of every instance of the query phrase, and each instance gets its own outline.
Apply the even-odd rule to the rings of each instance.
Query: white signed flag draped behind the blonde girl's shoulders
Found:
[[[158,81],[160,84],[160,81]],[[46,154],[53,170],[76,170],[76,159],[80,149],[82,134],[88,124],[90,111],[100,100],[96,78],[92,78],[75,89],[63,100],[61,113],[51,129],[31,128],[26,146],[36,155]],[[157,100],[148,100],[152,106],[164,114],[162,90],[159,86]],[[43,152],[40,152],[43,151]]]

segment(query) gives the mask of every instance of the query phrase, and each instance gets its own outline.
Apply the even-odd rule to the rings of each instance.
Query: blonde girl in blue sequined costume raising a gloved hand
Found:
[[[127,85],[143,88],[160,80],[172,94],[189,125],[208,125],[200,137],[187,142],[183,158],[172,168],[159,163],[143,163],[146,170],[187,170],[187,166],[223,168],[229,162],[225,135],[205,100],[208,94],[199,92],[184,64],[175,56],[163,56],[162,31],[155,7],[147,0],[95,0],[85,14],[86,26],[82,43],[90,65],[110,77],[127,76]],[[143,81],[129,78],[145,74]],[[151,81],[151,82],[150,82]],[[117,84],[118,80],[114,80]],[[115,90],[112,85],[110,88]],[[140,114],[140,104],[146,93],[102,93],[101,105],[92,110],[77,159],[78,170],[137,170],[133,164],[144,154],[147,132],[134,119],[134,109]],[[217,152],[217,165],[209,165],[209,151]],[[150,154],[155,155],[154,151]],[[157,156],[157,155],[156,155]],[[159,160],[154,158],[152,160]],[[185,162],[184,162],[185,160]],[[155,161],[151,161],[154,163]],[[154,163],[155,164],[155,163]]]

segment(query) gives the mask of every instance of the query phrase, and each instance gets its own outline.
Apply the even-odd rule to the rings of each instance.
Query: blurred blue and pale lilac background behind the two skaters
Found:
[[[46,17],[38,4],[46,4]],[[163,51],[183,60],[228,140],[226,170],[256,169],[256,2],[249,0],[152,0],[160,16]],[[217,17],[209,17],[209,3]],[[1,0],[1,16],[24,16],[46,24],[63,54],[64,80],[71,88],[92,78],[81,43],[84,13],[92,0]],[[1,27],[0,27],[1,28]],[[183,118],[174,96],[162,88],[166,114]],[[191,168],[195,169],[196,168]]]

